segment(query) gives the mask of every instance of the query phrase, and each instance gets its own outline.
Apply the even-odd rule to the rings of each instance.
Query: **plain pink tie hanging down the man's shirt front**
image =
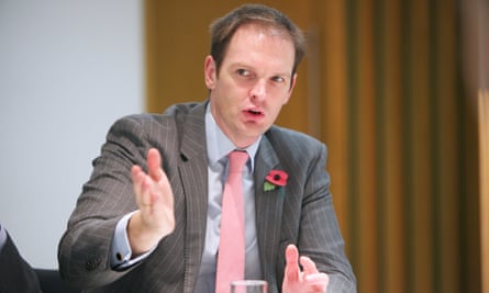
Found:
[[[245,224],[242,174],[247,159],[246,151],[233,150],[229,155],[229,174],[222,194],[216,293],[230,293],[231,282],[244,279]]]

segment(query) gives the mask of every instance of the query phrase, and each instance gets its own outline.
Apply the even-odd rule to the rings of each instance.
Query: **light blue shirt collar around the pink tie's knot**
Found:
[[[255,155],[258,150],[259,142],[263,136],[259,136],[255,143],[245,149],[251,158],[251,171],[253,172],[255,165]],[[221,131],[218,123],[215,123],[214,117],[211,113],[210,102],[207,104],[205,109],[205,139],[208,145],[208,158],[209,165],[213,166],[223,157],[226,157],[230,151],[236,149],[237,147],[227,138],[227,136]]]

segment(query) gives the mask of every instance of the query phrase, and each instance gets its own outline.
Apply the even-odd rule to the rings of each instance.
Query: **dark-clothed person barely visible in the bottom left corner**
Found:
[[[41,293],[35,271],[0,225],[0,293]]]

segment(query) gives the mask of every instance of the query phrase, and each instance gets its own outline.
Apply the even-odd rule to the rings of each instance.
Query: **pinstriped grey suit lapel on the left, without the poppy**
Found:
[[[205,241],[208,210],[208,161],[204,129],[205,103],[197,105],[182,128],[179,174],[186,201],[185,284],[192,292]]]

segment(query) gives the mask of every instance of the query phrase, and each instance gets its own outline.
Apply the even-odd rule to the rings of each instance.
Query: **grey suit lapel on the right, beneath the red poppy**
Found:
[[[264,191],[265,177],[271,169],[280,169],[277,154],[263,137],[255,157],[255,209],[262,270],[266,280],[275,281],[275,267],[280,241],[284,196],[278,189]],[[270,284],[273,285],[273,284]]]

